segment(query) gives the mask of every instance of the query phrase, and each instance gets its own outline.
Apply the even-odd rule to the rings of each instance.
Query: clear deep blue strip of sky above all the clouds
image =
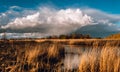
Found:
[[[36,8],[40,5],[53,5],[58,8],[86,6],[108,13],[120,13],[120,0],[0,0],[0,12],[6,11],[10,6]]]

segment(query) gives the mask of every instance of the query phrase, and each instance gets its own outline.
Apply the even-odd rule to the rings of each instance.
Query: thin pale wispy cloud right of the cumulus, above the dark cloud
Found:
[[[109,14],[98,9],[82,9],[84,13],[93,18],[94,23],[103,24],[109,30],[119,30],[120,14]],[[103,27],[104,28],[104,27]]]

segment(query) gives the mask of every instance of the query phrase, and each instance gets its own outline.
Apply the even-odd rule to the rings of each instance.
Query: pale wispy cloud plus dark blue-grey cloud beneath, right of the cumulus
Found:
[[[103,11],[84,8],[83,13],[93,18],[94,24],[81,27],[75,33],[90,34],[93,37],[105,37],[110,34],[120,33],[120,15],[105,13]]]

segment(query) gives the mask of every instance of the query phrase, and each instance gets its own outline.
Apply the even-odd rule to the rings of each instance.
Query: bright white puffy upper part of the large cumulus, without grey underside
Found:
[[[79,25],[85,26],[92,22],[90,16],[83,14],[80,9],[62,9],[53,10],[49,8],[40,8],[32,15],[16,18],[2,28],[20,29],[26,27],[36,27],[41,24],[56,25]]]

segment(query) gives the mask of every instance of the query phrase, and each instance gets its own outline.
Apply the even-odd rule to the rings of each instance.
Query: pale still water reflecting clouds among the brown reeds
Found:
[[[78,69],[80,58],[83,52],[88,51],[90,48],[75,45],[66,45],[64,68],[67,70]]]

